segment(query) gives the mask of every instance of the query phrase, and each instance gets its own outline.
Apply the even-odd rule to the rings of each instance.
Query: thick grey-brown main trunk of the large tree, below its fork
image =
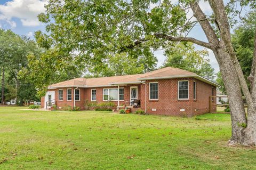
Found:
[[[246,119],[244,103],[242,98],[241,86],[236,75],[235,66],[227,53],[225,44],[220,41],[218,47],[213,51],[219,63],[223,83],[225,84],[228,100],[230,105],[232,136],[229,141],[230,145],[255,145],[256,143],[256,107],[248,104],[248,115],[253,115]],[[246,127],[247,125],[247,127]]]

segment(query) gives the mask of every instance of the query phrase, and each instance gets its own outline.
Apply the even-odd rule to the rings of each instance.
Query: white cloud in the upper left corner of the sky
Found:
[[[47,0],[12,0],[0,5],[0,20],[4,20],[14,28],[16,23],[12,20],[18,18],[23,26],[39,26],[37,15],[44,12]]]

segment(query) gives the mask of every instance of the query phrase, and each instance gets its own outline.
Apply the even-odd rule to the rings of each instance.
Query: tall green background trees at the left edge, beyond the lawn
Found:
[[[31,41],[26,37],[14,34],[11,30],[1,29],[0,49],[0,64],[2,68],[2,101],[17,99],[18,104],[22,105],[25,100],[38,99],[33,97],[36,94],[35,88],[34,90],[31,90],[31,88],[20,88],[25,85],[25,80],[19,78],[18,73],[22,68],[27,67],[27,55],[39,55],[41,53],[41,48],[39,48],[34,41]],[[29,99],[22,95],[25,93],[30,93]]]

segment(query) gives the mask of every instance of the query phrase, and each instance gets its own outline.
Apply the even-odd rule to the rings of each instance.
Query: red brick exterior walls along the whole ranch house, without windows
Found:
[[[178,81],[189,81],[189,99],[178,100]],[[197,82],[197,99],[193,99],[193,82]],[[149,83],[158,82],[158,100],[149,100]],[[212,87],[214,89],[214,95],[216,95],[216,87],[202,82],[195,78],[175,78],[175,79],[159,79],[159,80],[147,80],[146,92],[145,84],[133,84],[127,86],[120,86],[124,88],[124,101],[120,101],[120,105],[130,104],[130,87],[138,87],[138,99],[141,100],[141,109],[145,110],[145,93],[146,93],[146,110],[148,114],[157,115],[172,115],[172,116],[194,116],[209,112],[209,96],[212,93]],[[117,86],[109,87],[95,87],[95,88],[79,88],[80,89],[80,101],[76,101],[75,105],[84,109],[85,101],[91,102],[91,90],[96,89],[96,100],[98,103],[103,101],[103,88],[117,88]],[[57,101],[57,107],[74,106],[74,87],[72,88],[72,101],[67,101],[67,88],[63,89],[63,101],[59,101],[59,89],[55,91],[55,101]],[[113,101],[117,105],[117,101]],[[41,98],[42,107],[44,105],[44,98]],[[213,104],[216,104],[214,98]],[[156,109],[153,111],[152,109]],[[181,111],[185,109],[185,111]],[[216,110],[214,106],[213,111]]]

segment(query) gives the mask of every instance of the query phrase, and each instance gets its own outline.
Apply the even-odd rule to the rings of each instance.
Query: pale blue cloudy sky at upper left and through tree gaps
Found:
[[[177,0],[173,2],[175,1]],[[47,0],[0,0],[0,28],[11,29],[16,34],[33,38],[36,30],[45,31],[44,25],[38,22],[37,15],[45,11],[44,5],[46,3]],[[152,5],[154,6],[154,4]],[[208,2],[201,1],[199,6],[205,13],[212,12]],[[191,15],[191,13],[188,15]],[[202,28],[196,26],[188,36],[207,42],[206,36],[202,33]],[[200,50],[203,47],[196,45],[196,49]],[[160,50],[154,53],[158,59],[158,67],[162,66],[165,60],[163,52],[163,50]],[[209,59],[215,72],[218,72],[219,66],[211,50],[209,50]]]

